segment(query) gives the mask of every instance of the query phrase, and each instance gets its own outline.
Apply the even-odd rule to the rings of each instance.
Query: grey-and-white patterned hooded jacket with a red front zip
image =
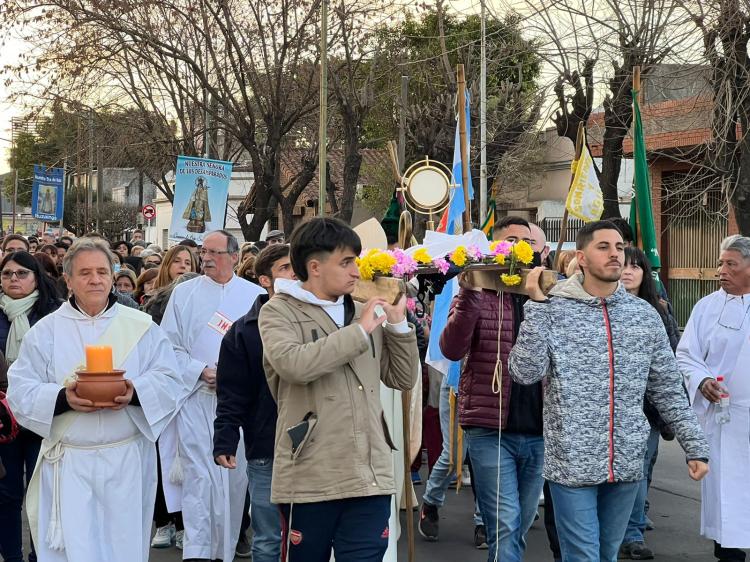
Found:
[[[688,460],[708,459],[659,313],[622,286],[593,297],[582,280],[558,284],[548,302],[526,303],[508,361],[521,384],[548,376],[544,477],[565,486],[640,480],[649,434],[644,394]]]

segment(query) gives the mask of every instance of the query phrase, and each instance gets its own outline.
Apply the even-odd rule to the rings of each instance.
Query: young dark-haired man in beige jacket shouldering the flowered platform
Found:
[[[299,281],[277,280],[259,323],[279,409],[271,500],[286,523],[282,558],[380,561],[396,491],[380,382],[414,386],[416,334],[405,298],[352,300],[361,244],[348,225],[315,218],[290,244]]]

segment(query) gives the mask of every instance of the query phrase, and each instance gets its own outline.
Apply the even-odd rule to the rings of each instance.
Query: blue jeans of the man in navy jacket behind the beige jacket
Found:
[[[281,556],[281,512],[271,503],[272,469],[273,459],[247,461],[255,562],[279,562]]]

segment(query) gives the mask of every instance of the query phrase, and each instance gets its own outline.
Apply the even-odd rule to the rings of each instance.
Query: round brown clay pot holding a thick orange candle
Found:
[[[115,397],[128,390],[125,371],[112,367],[112,348],[106,345],[86,346],[86,369],[76,371],[78,386],[76,393],[91,400],[97,408],[117,406]]]

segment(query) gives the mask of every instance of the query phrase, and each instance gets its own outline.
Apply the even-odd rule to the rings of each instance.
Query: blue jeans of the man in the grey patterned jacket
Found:
[[[617,562],[640,482],[549,486],[563,562]]]

